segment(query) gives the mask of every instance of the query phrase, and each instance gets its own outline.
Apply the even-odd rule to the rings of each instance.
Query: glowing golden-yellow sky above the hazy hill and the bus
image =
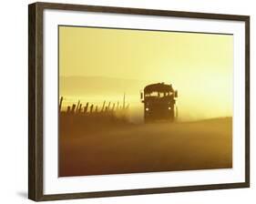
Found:
[[[232,73],[231,35],[59,26],[60,76],[171,83],[184,116],[232,116]]]

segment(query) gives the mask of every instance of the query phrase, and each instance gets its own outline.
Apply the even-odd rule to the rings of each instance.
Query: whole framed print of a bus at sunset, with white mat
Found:
[[[250,16],[29,5],[36,201],[250,186]]]

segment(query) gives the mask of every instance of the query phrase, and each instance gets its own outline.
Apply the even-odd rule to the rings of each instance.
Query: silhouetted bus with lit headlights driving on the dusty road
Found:
[[[145,87],[140,92],[141,102],[144,103],[144,121],[174,121],[178,117],[178,108],[175,106],[177,97],[178,91],[172,85],[157,83]]]

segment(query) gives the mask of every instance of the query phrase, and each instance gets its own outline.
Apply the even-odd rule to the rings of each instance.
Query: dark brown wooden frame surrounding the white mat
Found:
[[[169,187],[156,189],[126,189],[98,192],[44,195],[43,183],[43,12],[45,9],[90,11],[130,15],[159,15],[189,18],[219,19],[245,23],[245,182]],[[148,10],[94,5],[35,3],[28,6],[28,198],[36,201],[54,199],[84,199],[154,193],[169,193],[207,189],[250,187],[250,16],[219,15],[167,10]]]

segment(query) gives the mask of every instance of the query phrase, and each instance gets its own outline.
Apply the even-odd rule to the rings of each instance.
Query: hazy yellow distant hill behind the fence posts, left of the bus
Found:
[[[59,91],[62,96],[138,95],[147,82],[105,76],[60,76]]]

